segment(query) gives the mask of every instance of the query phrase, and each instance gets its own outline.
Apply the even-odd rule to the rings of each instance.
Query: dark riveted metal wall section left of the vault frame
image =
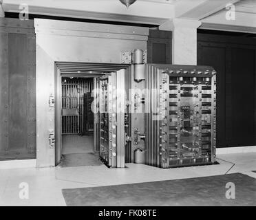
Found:
[[[32,21],[0,19],[0,159],[36,157],[36,39]],[[3,123],[2,123],[3,122]]]

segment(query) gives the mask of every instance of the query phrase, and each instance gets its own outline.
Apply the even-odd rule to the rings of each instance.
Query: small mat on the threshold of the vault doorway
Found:
[[[61,167],[70,166],[100,166],[103,163],[100,157],[95,153],[71,153],[63,155],[61,159]]]

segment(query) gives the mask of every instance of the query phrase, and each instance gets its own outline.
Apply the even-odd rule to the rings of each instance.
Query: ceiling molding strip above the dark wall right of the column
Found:
[[[199,29],[256,34],[256,28],[254,28],[254,27],[246,27],[246,26],[239,26],[239,25],[224,25],[224,24],[220,24],[220,23],[204,23],[204,22],[202,22],[202,25],[200,26]]]

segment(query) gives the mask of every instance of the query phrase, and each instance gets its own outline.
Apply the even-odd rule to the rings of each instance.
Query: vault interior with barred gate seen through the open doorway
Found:
[[[61,78],[62,155],[94,152],[94,78]]]

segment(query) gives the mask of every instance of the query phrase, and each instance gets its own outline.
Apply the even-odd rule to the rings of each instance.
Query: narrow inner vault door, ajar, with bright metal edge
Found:
[[[125,167],[125,69],[99,80],[100,158],[111,168]]]

